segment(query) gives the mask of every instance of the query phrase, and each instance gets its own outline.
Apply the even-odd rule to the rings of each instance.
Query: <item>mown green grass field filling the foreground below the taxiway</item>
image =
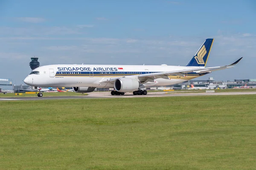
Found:
[[[0,102],[0,169],[255,169],[256,95]]]

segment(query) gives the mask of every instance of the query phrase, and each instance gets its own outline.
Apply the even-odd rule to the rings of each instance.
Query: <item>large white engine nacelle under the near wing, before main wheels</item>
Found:
[[[114,82],[114,87],[118,92],[137,91],[139,86],[140,85],[137,79],[125,77],[117,78]]]

